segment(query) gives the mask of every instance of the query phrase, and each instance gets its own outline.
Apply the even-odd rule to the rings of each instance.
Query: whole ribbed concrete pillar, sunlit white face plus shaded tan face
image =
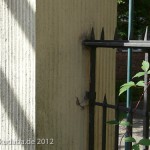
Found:
[[[92,26],[96,38],[104,27],[105,39],[112,39],[115,24],[115,0],[0,0],[2,141],[34,140],[36,124],[37,138],[54,139],[53,145],[37,145],[36,149],[88,149],[88,106],[81,110],[76,105],[76,97],[82,101],[89,89],[89,51],[81,42]],[[114,103],[114,72],[115,50],[98,50],[97,101],[106,93],[108,102]],[[107,131],[107,149],[111,150],[114,133],[111,127]],[[95,139],[99,150],[100,108]],[[34,150],[35,145],[0,145],[0,149]]]

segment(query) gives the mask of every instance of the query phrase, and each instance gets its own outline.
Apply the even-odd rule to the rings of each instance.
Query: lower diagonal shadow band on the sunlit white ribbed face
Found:
[[[35,140],[33,139],[33,137],[35,137],[34,128],[30,124],[21,105],[18,103],[15,92],[8,83],[5,74],[2,72],[2,70],[0,70],[0,83],[1,104],[5,110],[8,119],[11,121],[11,125],[13,125],[15,132],[17,133],[17,136],[19,138],[18,140]],[[24,148],[25,150],[28,150],[29,145],[24,145]]]

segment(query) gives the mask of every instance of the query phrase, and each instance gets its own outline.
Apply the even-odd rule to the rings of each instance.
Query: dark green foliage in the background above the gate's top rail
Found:
[[[121,39],[126,40],[128,37],[128,5],[129,0],[117,0],[117,31]],[[145,27],[150,24],[150,9],[149,0],[136,0],[134,1],[133,12],[133,39],[143,37]]]

